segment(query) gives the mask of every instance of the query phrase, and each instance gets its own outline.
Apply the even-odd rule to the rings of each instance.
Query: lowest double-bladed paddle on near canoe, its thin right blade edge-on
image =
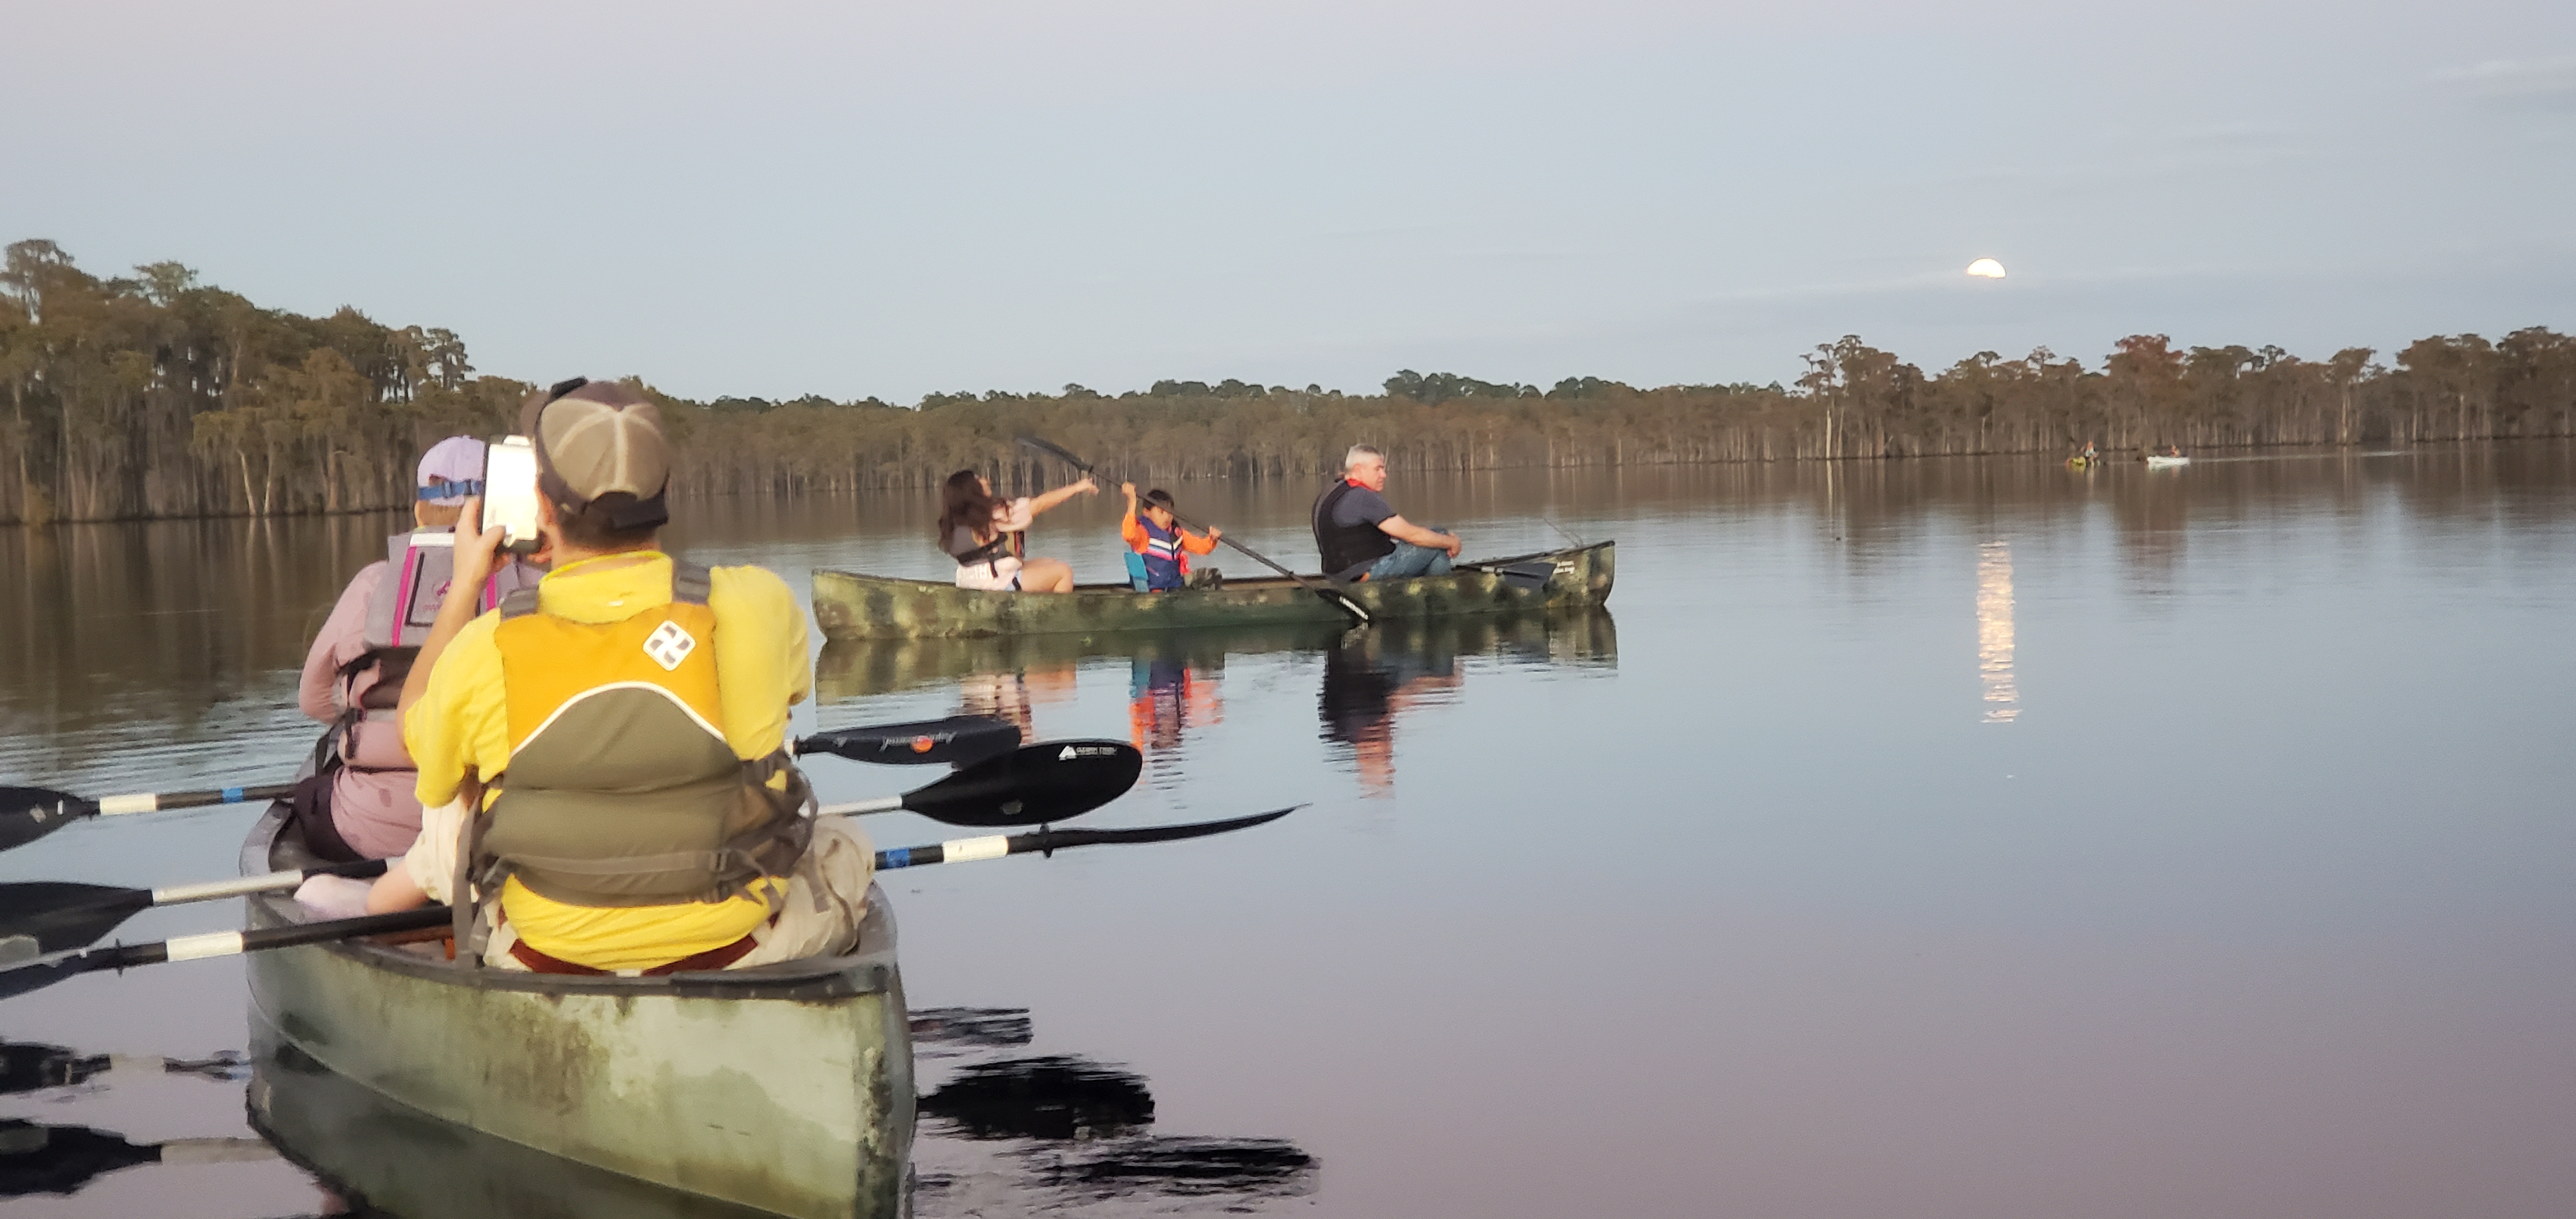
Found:
[[[930,863],[971,863],[979,858],[1028,856],[1028,853],[1051,856],[1056,850],[1072,850],[1077,845],[1177,843],[1185,838],[1208,838],[1231,830],[1249,830],[1255,825],[1267,825],[1280,817],[1288,817],[1301,804],[1257,812],[1252,817],[1231,817],[1224,822],[1141,825],[1136,830],[1038,830],[1030,835],[958,838],[948,843],[878,850],[876,869],[878,871],[922,869]],[[52,987],[54,982],[80,974],[95,974],[103,969],[124,972],[162,961],[201,961],[209,956],[240,956],[268,948],[294,948],[301,943],[350,941],[358,936],[392,936],[402,930],[446,928],[448,920],[451,920],[448,907],[425,905],[420,910],[397,910],[392,915],[332,917],[322,923],[296,923],[289,928],[209,930],[204,936],[175,936],[160,943],[116,943],[108,948],[90,948],[82,954],[54,956],[52,961],[33,961],[0,969],[0,1000],[13,995],[28,995],[33,990]]]

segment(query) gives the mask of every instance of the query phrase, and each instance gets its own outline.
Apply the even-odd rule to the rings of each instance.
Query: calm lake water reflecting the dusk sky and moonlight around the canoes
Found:
[[[1175,490],[1311,562],[1303,487]],[[1090,825],[1306,804],[1200,843],[889,874],[922,1008],[920,1214],[2576,1198],[2576,451],[1507,472],[1391,497],[1473,554],[1618,539],[1610,613],[817,637],[801,729],[974,709],[1139,740],[1146,781]],[[940,572],[912,500],[683,513],[675,549],[799,590],[819,564]],[[1113,577],[1113,503],[1074,505],[1036,549]],[[381,531],[0,531],[0,781],[283,778],[312,734],[307,634]],[[858,799],[925,776],[814,778]],[[250,812],[118,822],[10,850],[0,879],[216,879]],[[247,1067],[222,1059],[245,1036],[237,961],[0,1005],[10,1044],[201,1059],[0,1093],[0,1118],[111,1134],[54,1131],[41,1157],[0,1129],[8,1211],[340,1214],[312,1170],[469,1147],[379,1124],[283,1160],[113,1152],[250,1139]]]

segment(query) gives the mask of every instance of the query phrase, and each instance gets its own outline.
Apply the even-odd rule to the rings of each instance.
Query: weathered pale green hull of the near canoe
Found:
[[[245,866],[265,871],[276,820]],[[250,899],[255,928],[294,920]],[[255,1023],[433,1118],[770,1214],[907,1211],[912,1033],[881,892],[855,954],[791,972],[562,979],[374,943],[247,969]]]

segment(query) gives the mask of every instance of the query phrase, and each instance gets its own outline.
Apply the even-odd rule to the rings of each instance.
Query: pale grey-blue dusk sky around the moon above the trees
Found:
[[[0,240],[685,397],[2576,330],[2576,5],[10,5]],[[1996,258],[2009,278],[1965,276]]]

